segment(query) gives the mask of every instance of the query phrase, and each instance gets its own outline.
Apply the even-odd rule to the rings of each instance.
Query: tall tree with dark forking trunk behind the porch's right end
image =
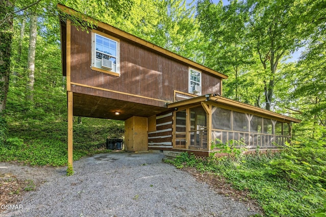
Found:
[[[249,39],[259,55],[265,74],[266,110],[273,106],[280,61],[301,47],[303,40],[312,33],[313,28],[307,16],[311,6],[311,1],[247,1],[247,11],[251,18],[248,23]]]

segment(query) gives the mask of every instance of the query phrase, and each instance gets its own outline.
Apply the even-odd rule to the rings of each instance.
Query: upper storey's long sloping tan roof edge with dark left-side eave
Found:
[[[95,26],[97,26],[98,29],[103,29],[107,32],[110,32],[111,34],[113,35],[116,35],[116,36],[119,36],[119,38],[123,38],[127,41],[131,41],[135,44],[138,44],[139,46],[143,46],[143,47],[146,47],[154,52],[157,52],[159,53],[160,55],[162,56],[166,56],[166,57],[169,57],[171,59],[174,59],[176,61],[180,61],[182,63],[185,63],[186,65],[188,66],[191,66],[191,67],[194,67],[194,68],[197,68],[199,70],[202,70],[202,71],[205,71],[207,73],[210,73],[210,74],[213,74],[215,76],[218,76],[220,78],[224,78],[224,79],[227,79],[228,76],[221,73],[221,72],[218,72],[218,71],[215,71],[213,69],[210,69],[206,66],[203,66],[199,63],[196,63],[192,60],[189,60],[187,58],[184,58],[180,55],[177,55],[176,53],[174,52],[171,52],[167,49],[164,49],[162,47],[159,47],[153,43],[150,43],[148,41],[145,41],[137,36],[134,36],[134,35],[131,35],[129,33],[126,33],[122,30],[119,30],[117,28],[115,28],[114,26],[112,25],[109,25],[107,23],[104,23],[104,22],[101,22],[101,21],[98,21],[98,20],[95,20],[87,15],[84,15],[80,12],[77,12],[71,8],[68,8],[64,5],[61,5],[61,4],[58,4],[57,5],[58,7],[58,10],[65,13],[65,14],[68,14],[68,15],[71,15],[73,17],[78,17],[80,19],[82,19],[83,21],[86,21],[86,22],[91,22],[93,23]],[[62,70],[63,70],[63,75],[65,76],[66,74],[66,21],[65,20],[62,20],[60,19],[60,26],[61,26],[61,50],[62,50]]]

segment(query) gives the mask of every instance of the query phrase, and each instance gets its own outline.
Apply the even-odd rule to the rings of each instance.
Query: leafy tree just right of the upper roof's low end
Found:
[[[244,6],[236,1],[223,6],[222,2],[215,5],[203,0],[197,3],[197,19],[209,43],[205,65],[229,75],[224,83],[226,97],[248,102],[246,89],[249,84],[239,78],[241,74],[243,78],[248,66],[253,64],[252,52],[246,45],[249,17]]]

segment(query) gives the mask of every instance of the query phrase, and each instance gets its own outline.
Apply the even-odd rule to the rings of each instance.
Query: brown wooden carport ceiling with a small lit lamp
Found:
[[[126,120],[132,116],[150,117],[169,110],[171,108],[73,93],[74,116]],[[120,112],[120,115],[115,115],[115,112]]]

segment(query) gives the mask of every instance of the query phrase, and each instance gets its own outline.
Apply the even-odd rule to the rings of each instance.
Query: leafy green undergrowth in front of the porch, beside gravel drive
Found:
[[[298,140],[286,145],[281,153],[243,155],[196,160],[181,153],[172,164],[178,168],[195,167],[223,175],[233,187],[250,191],[266,216],[323,216],[326,198],[326,141]],[[232,149],[225,144],[225,153]],[[170,161],[171,162],[171,161]]]

